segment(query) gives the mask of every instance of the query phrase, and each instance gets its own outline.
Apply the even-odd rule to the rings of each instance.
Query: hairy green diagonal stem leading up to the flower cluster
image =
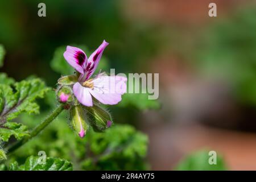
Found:
[[[18,142],[14,143],[9,148],[7,148],[6,150],[9,152],[9,154],[10,154],[10,152],[13,152],[16,149],[18,149],[23,144],[27,143],[28,140],[36,137],[46,126],[49,125],[49,123],[51,123],[53,121],[53,119],[55,119],[61,113],[61,111],[63,111],[63,109],[64,109],[63,104],[60,104],[59,106],[57,106],[56,109],[53,110],[52,113],[50,115],[48,115],[48,117],[46,119],[44,119],[44,121],[42,121],[38,126],[36,126],[31,131],[31,134],[29,137],[23,138],[22,140],[19,140]]]

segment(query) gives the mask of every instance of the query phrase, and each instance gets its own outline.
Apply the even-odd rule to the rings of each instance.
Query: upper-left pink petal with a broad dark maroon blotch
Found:
[[[87,63],[87,57],[82,51],[82,49],[72,46],[67,46],[66,51],[64,52],[63,56],[65,60],[67,60],[68,64],[70,64],[76,71],[84,74],[84,68]]]

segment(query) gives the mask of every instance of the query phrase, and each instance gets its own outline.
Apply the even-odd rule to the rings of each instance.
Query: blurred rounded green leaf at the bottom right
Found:
[[[201,150],[185,157],[177,165],[179,171],[222,171],[226,170],[226,165],[222,156],[217,154],[216,164],[209,164],[209,151]]]

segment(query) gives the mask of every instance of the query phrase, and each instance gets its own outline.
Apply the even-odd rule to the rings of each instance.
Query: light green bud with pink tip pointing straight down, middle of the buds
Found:
[[[82,106],[73,106],[70,110],[70,115],[73,129],[79,134],[79,137],[84,138],[88,125],[85,121],[86,115],[84,110],[82,110]]]

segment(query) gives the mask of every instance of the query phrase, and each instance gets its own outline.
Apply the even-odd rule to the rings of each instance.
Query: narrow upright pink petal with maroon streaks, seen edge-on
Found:
[[[109,43],[107,43],[104,40],[102,42],[101,46],[98,47],[96,49],[96,51],[94,51],[92,53],[92,55],[90,55],[90,57],[88,59],[88,64],[86,65],[86,68],[85,68],[86,76],[84,78],[82,78],[82,81],[88,80],[88,78],[93,75],[94,71],[97,68],[98,63],[100,62],[102,53],[103,53],[104,49],[106,48],[106,46],[108,46],[108,45],[109,45]]]

